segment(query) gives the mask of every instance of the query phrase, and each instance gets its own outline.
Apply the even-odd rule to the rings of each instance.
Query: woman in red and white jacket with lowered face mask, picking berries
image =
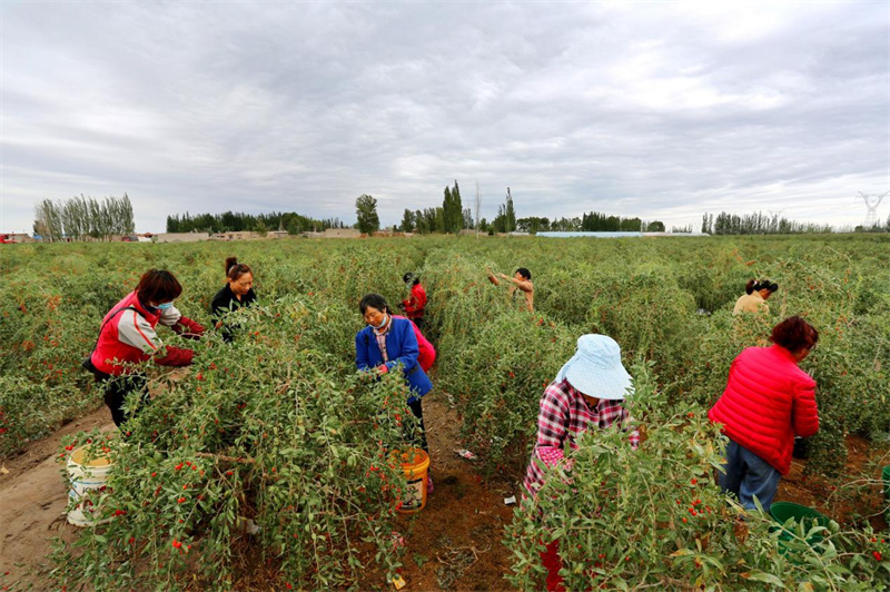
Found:
[[[129,417],[121,410],[130,393],[141,393],[148,401],[145,376],[132,364],[154,359],[161,366],[188,366],[191,349],[165,346],[155,327],[160,324],[190,338],[204,334],[204,327],[184,317],[174,307],[182,286],[170,272],[151,269],[139,279],[136,289],[116,304],[102,319],[90,368],[105,391],[105,403],[111,410],[115,425]]]

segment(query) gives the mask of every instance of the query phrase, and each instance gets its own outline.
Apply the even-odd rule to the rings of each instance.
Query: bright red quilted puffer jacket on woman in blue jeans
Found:
[[[708,417],[787,475],[794,436],[819,432],[815,381],[784,347],[748,347],[732,362],[726,389]]]

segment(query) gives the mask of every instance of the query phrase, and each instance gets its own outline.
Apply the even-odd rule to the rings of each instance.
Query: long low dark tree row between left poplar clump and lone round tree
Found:
[[[188,211],[181,216],[167,216],[168,233],[240,233],[266,234],[269,230],[286,230],[289,235],[306,231],[322,231],[327,228],[346,228],[339,218],[316,220],[300,216],[296,211],[271,214],[244,214],[225,211],[222,214],[198,214]]]

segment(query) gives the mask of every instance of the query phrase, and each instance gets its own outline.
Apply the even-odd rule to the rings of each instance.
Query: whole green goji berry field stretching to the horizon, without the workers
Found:
[[[142,272],[174,272],[177,307],[209,326],[230,255],[254,268],[260,306],[243,312],[234,344],[211,335],[184,345],[198,354],[188,371],[150,371],[154,401],[128,424],[129,445],[98,432],[59,438],[62,457],[88,437],[116,451],[122,470],[97,502],[113,520],[67,527],[55,571],[28,582],[393,590],[398,572],[409,590],[536,590],[537,545],[558,536],[572,542],[571,589],[890,585],[879,485],[890,464],[890,237],[16,245],[0,251],[4,463],[99,406],[80,362]],[[485,278],[518,266],[533,274],[534,314]],[[399,302],[409,270],[429,294],[438,354],[425,399],[436,491],[413,519],[395,512],[404,476],[388,462],[412,420],[405,387],[354,371],[358,300]],[[733,318],[752,277],[779,283],[771,314]],[[735,355],[792,314],[820,332],[802,367],[819,384],[822,426],[777,499],[837,521],[812,546],[807,533],[780,545],[767,520],[740,529],[713,483],[719,438],[705,417]],[[545,519],[513,512],[502,500],[520,494],[543,386],[590,332],[622,346],[646,440],[632,452],[620,434],[592,434],[571,485],[540,502]],[[479,461],[457,458],[458,447]],[[246,534],[244,517],[259,532]]]

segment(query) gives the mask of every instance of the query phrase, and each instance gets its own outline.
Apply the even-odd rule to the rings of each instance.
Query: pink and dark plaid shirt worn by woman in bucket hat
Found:
[[[605,430],[613,424],[624,427],[631,416],[622,406],[621,401],[600,399],[595,410],[591,410],[584,397],[568,381],[552,382],[544,389],[541,397],[541,413],[537,416],[537,442],[532,451],[532,461],[525,472],[525,486],[528,494],[534,497],[544,483],[544,470],[535,460],[540,460],[548,467],[556,466],[564,458],[566,442],[572,450],[577,448],[575,440],[590,426],[600,426]],[[631,447],[636,450],[640,444],[640,432],[630,433]]]

